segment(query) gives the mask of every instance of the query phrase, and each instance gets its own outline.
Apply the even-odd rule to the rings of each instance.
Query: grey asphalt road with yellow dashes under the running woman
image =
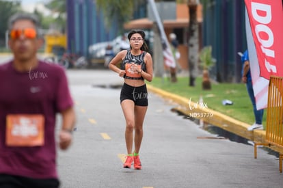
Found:
[[[3,57],[0,57],[0,63]],[[142,170],[122,168],[126,154],[122,79],[110,70],[67,70],[77,112],[69,150],[58,150],[62,188],[283,187],[278,159],[265,150],[216,138],[149,94],[140,150]],[[58,116],[58,120],[59,116]],[[59,124],[57,126],[59,129]]]

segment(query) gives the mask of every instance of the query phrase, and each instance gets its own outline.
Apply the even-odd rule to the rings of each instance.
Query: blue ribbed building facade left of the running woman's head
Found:
[[[67,49],[72,53],[87,55],[90,45],[113,40],[118,33],[115,21],[111,28],[104,23],[103,12],[93,0],[68,0],[67,5]]]

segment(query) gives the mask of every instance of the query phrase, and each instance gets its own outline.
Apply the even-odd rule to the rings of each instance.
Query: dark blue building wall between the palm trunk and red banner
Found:
[[[213,77],[219,82],[241,81],[241,58],[247,49],[245,36],[245,2],[202,0],[202,46],[213,47],[217,60]]]

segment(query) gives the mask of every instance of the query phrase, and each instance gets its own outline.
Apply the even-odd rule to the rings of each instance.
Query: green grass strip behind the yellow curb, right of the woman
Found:
[[[209,109],[224,113],[231,118],[245,122],[254,123],[254,112],[250,97],[244,83],[212,83],[211,90],[202,90],[202,78],[196,79],[196,87],[189,86],[188,77],[178,77],[177,83],[171,83],[168,78],[155,77],[148,83],[156,88],[178,94],[191,101],[197,102],[202,96],[204,103]],[[222,100],[231,100],[233,105],[222,105]],[[266,124],[266,111],[262,124]]]

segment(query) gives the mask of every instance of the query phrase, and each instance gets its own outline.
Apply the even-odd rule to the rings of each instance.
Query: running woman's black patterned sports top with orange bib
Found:
[[[145,55],[146,51],[142,51],[142,53],[139,55],[133,55],[131,53],[131,49],[126,52],[126,57],[121,64],[121,69],[126,70],[126,74],[124,75],[125,79],[144,79],[140,73],[131,71],[131,64],[137,64],[137,66],[140,66],[142,70],[146,72],[146,64],[144,62]]]

